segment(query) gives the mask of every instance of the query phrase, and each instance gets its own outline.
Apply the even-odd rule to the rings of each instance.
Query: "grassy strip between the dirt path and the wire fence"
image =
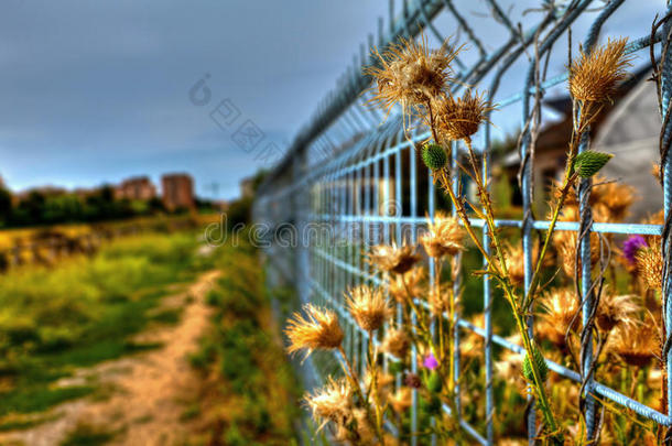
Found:
[[[206,436],[210,444],[231,446],[294,444],[300,389],[273,323],[262,269],[251,248],[221,251],[223,275],[206,297],[214,324],[189,357],[204,376],[218,377],[208,392],[217,409],[205,404],[215,414]]]

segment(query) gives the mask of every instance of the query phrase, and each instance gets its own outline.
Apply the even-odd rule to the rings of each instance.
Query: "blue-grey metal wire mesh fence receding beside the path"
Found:
[[[399,113],[383,117],[380,111],[366,105],[370,95],[366,91],[370,78],[362,75],[362,67],[375,64],[368,47],[384,48],[401,37],[415,39],[423,32],[436,42],[443,42],[451,35],[460,43],[468,44],[469,51],[457,61],[458,79],[464,85],[481,86],[488,98],[498,105],[495,113],[519,116],[519,160],[520,193],[522,216],[519,219],[499,219],[497,226],[513,228],[519,231],[524,258],[525,287],[532,275],[532,257],[535,233],[548,229],[549,221],[533,214],[534,207],[534,138],[542,122],[540,101],[555,86],[563,86],[567,79],[564,64],[549,67],[548,61],[553,54],[562,54],[566,62],[568,30],[576,22],[584,23],[585,35],[572,33],[572,39],[582,40],[583,48],[590,48],[598,40],[605,23],[625,0],[590,1],[574,0],[566,2],[542,1],[539,9],[528,11],[518,24],[514,18],[507,14],[505,6],[497,0],[481,2],[483,14],[475,14],[473,2],[451,0],[403,1],[401,11],[395,15],[395,3],[390,1],[387,25],[382,19],[378,23],[378,33],[370,34],[354,58],[353,65],[339,79],[337,88],[329,93],[318,105],[316,113],[294,140],[284,160],[270,174],[262,185],[254,204],[254,219],[272,230],[272,239],[263,243],[269,259],[269,280],[284,280],[296,290],[303,303],[318,303],[334,308],[340,316],[346,329],[346,353],[354,363],[364,368],[367,333],[354,323],[344,306],[344,292],[354,285],[364,283],[380,284],[381,278],[362,259],[367,247],[378,243],[401,243],[418,241],[420,231],[427,218],[432,218],[437,208],[443,207],[440,194],[435,189],[432,174],[418,160],[416,151],[409,138],[404,135],[402,118]],[[661,13],[664,15],[666,4],[661,1]],[[498,26],[496,39],[484,41],[478,32],[484,18],[491,20],[489,26]],[[479,22],[473,24],[472,22]],[[585,26],[589,21],[589,26]],[[653,21],[653,18],[651,18]],[[492,24],[494,23],[494,24]],[[661,151],[663,172],[663,208],[669,222],[672,208],[672,170],[666,149],[670,143],[670,121],[668,105],[670,100],[670,80],[672,80],[672,55],[669,57],[668,42],[670,26],[666,24],[651,35],[628,36],[628,53],[640,53],[649,57],[649,47],[654,47],[657,57],[663,61],[661,70],[662,122]],[[494,31],[492,31],[494,33]],[[491,36],[492,33],[483,34]],[[506,91],[503,79],[509,76],[517,90]],[[383,122],[382,124],[380,122]],[[486,123],[479,132],[480,141],[475,140],[476,149],[485,159],[485,175],[488,171],[494,150],[492,133],[496,129]],[[426,140],[427,133],[411,130],[410,140],[420,143]],[[579,150],[586,150],[589,141],[584,140]],[[456,166],[460,144],[455,143],[453,166]],[[456,168],[452,171],[457,172]],[[581,218],[577,222],[560,222],[557,230],[578,233],[581,274],[584,279],[581,289],[583,322],[586,324],[595,311],[592,298],[590,243],[592,232],[610,235],[654,235],[663,236],[663,258],[665,262],[663,279],[663,308],[665,325],[672,326],[672,307],[666,305],[670,293],[670,242],[672,235],[669,224],[637,225],[593,222],[592,209],[587,200],[589,183],[579,187]],[[456,191],[457,192],[457,191]],[[484,227],[484,221],[474,220],[475,226]],[[489,247],[490,236],[483,231],[484,246]],[[432,260],[430,260],[432,262]],[[434,271],[430,264],[429,271]],[[434,281],[433,273],[430,281]],[[269,285],[273,285],[270,283]],[[455,283],[460,287],[460,283]],[[483,295],[465,294],[463,300],[481,300],[485,316],[484,326],[477,326],[465,318],[457,319],[455,339],[455,362],[459,365],[459,338],[467,333],[483,337],[483,392],[477,404],[485,406],[485,417],[477,423],[463,416],[462,400],[456,399],[458,413],[451,416],[459,421],[462,428],[479,444],[491,445],[496,442],[496,401],[494,388],[494,350],[508,349],[524,352],[522,347],[495,334],[492,320],[495,290],[488,276],[483,278]],[[419,301],[422,302],[422,301]],[[533,324],[532,324],[533,326]],[[670,331],[670,330],[668,330]],[[670,426],[672,417],[639,401],[594,380],[592,363],[594,352],[590,350],[590,333],[583,334],[583,344],[588,346],[582,353],[581,367],[572,370],[561,363],[548,360],[549,368],[565,379],[583,384],[586,394],[582,410],[586,414],[589,435],[599,423],[596,413],[598,401],[610,401],[625,406],[635,413]],[[665,339],[663,362],[672,359],[669,342]],[[418,370],[416,355],[412,353],[413,371]],[[338,360],[338,358],[335,358]],[[307,385],[322,382],[328,371],[328,361],[314,363],[308,359],[304,363]],[[459,367],[456,367],[455,383],[459,388]],[[669,380],[672,374],[669,376]],[[398,378],[399,383],[399,378]],[[672,400],[672,381],[666,385],[666,406]],[[413,394],[411,407],[411,429],[418,429],[418,395]],[[447,410],[447,406],[445,407]],[[528,411],[530,442],[535,434],[534,411]],[[390,429],[394,427],[390,424]],[[436,439],[434,438],[434,442]],[[411,437],[412,445],[418,444]]]

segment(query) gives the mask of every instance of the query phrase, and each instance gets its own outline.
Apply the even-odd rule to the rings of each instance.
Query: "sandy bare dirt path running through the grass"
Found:
[[[209,322],[205,296],[218,271],[203,274],[186,293],[163,300],[161,309],[183,306],[180,323],[150,329],[138,340],[162,342],[145,353],[104,362],[79,371],[59,385],[95,382],[104,398],[68,402],[51,411],[53,421],[25,431],[0,435],[0,444],[56,446],[75,429],[113,433],[110,445],[171,446],[183,444],[187,433],[181,423],[199,378],[186,356],[197,348],[198,338]]]

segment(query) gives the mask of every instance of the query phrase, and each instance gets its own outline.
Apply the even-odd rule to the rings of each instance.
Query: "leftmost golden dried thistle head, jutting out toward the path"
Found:
[[[312,304],[305,305],[304,311],[307,317],[294,313],[285,328],[285,334],[290,338],[288,351],[293,353],[307,350],[307,357],[315,349],[328,350],[340,347],[344,335],[336,313],[317,308]]]

